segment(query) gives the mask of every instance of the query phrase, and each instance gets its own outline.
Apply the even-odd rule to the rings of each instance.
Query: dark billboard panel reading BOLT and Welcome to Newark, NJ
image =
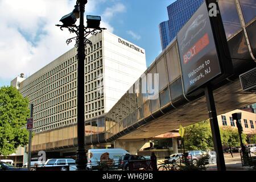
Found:
[[[184,92],[191,93],[221,74],[207,5],[203,5],[177,34]]]

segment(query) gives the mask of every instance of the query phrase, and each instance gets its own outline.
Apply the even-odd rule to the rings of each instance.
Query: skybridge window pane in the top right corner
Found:
[[[256,16],[256,0],[240,0],[240,5],[245,23],[249,23]]]

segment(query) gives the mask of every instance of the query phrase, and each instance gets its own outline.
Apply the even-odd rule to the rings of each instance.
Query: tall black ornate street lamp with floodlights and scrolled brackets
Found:
[[[84,26],[84,10],[87,0],[77,0],[75,9],[72,13],[63,16],[60,19],[62,25],[56,24],[63,28],[68,28],[69,32],[75,33],[76,36],[66,41],[67,44],[72,40],[76,40],[75,47],[77,47],[77,170],[86,170],[86,153],[85,153],[85,118],[84,118],[84,60],[85,47],[89,44],[92,47],[92,42],[87,39],[88,35],[96,35],[98,31],[105,30],[100,28],[100,16],[87,16],[88,26]],[[76,19],[80,18],[79,26],[76,26]],[[97,26],[98,25],[98,26]]]

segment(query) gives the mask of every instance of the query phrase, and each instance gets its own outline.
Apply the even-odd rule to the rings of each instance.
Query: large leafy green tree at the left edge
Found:
[[[13,154],[28,143],[24,127],[30,110],[28,99],[13,86],[0,88],[0,155]]]

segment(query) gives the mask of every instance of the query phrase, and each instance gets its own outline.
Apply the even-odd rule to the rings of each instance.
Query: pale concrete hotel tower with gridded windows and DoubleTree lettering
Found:
[[[146,70],[143,48],[108,31],[89,40],[93,47],[85,50],[85,119],[108,112]],[[76,122],[76,54],[72,48],[30,77],[11,81],[34,104],[34,133]]]

